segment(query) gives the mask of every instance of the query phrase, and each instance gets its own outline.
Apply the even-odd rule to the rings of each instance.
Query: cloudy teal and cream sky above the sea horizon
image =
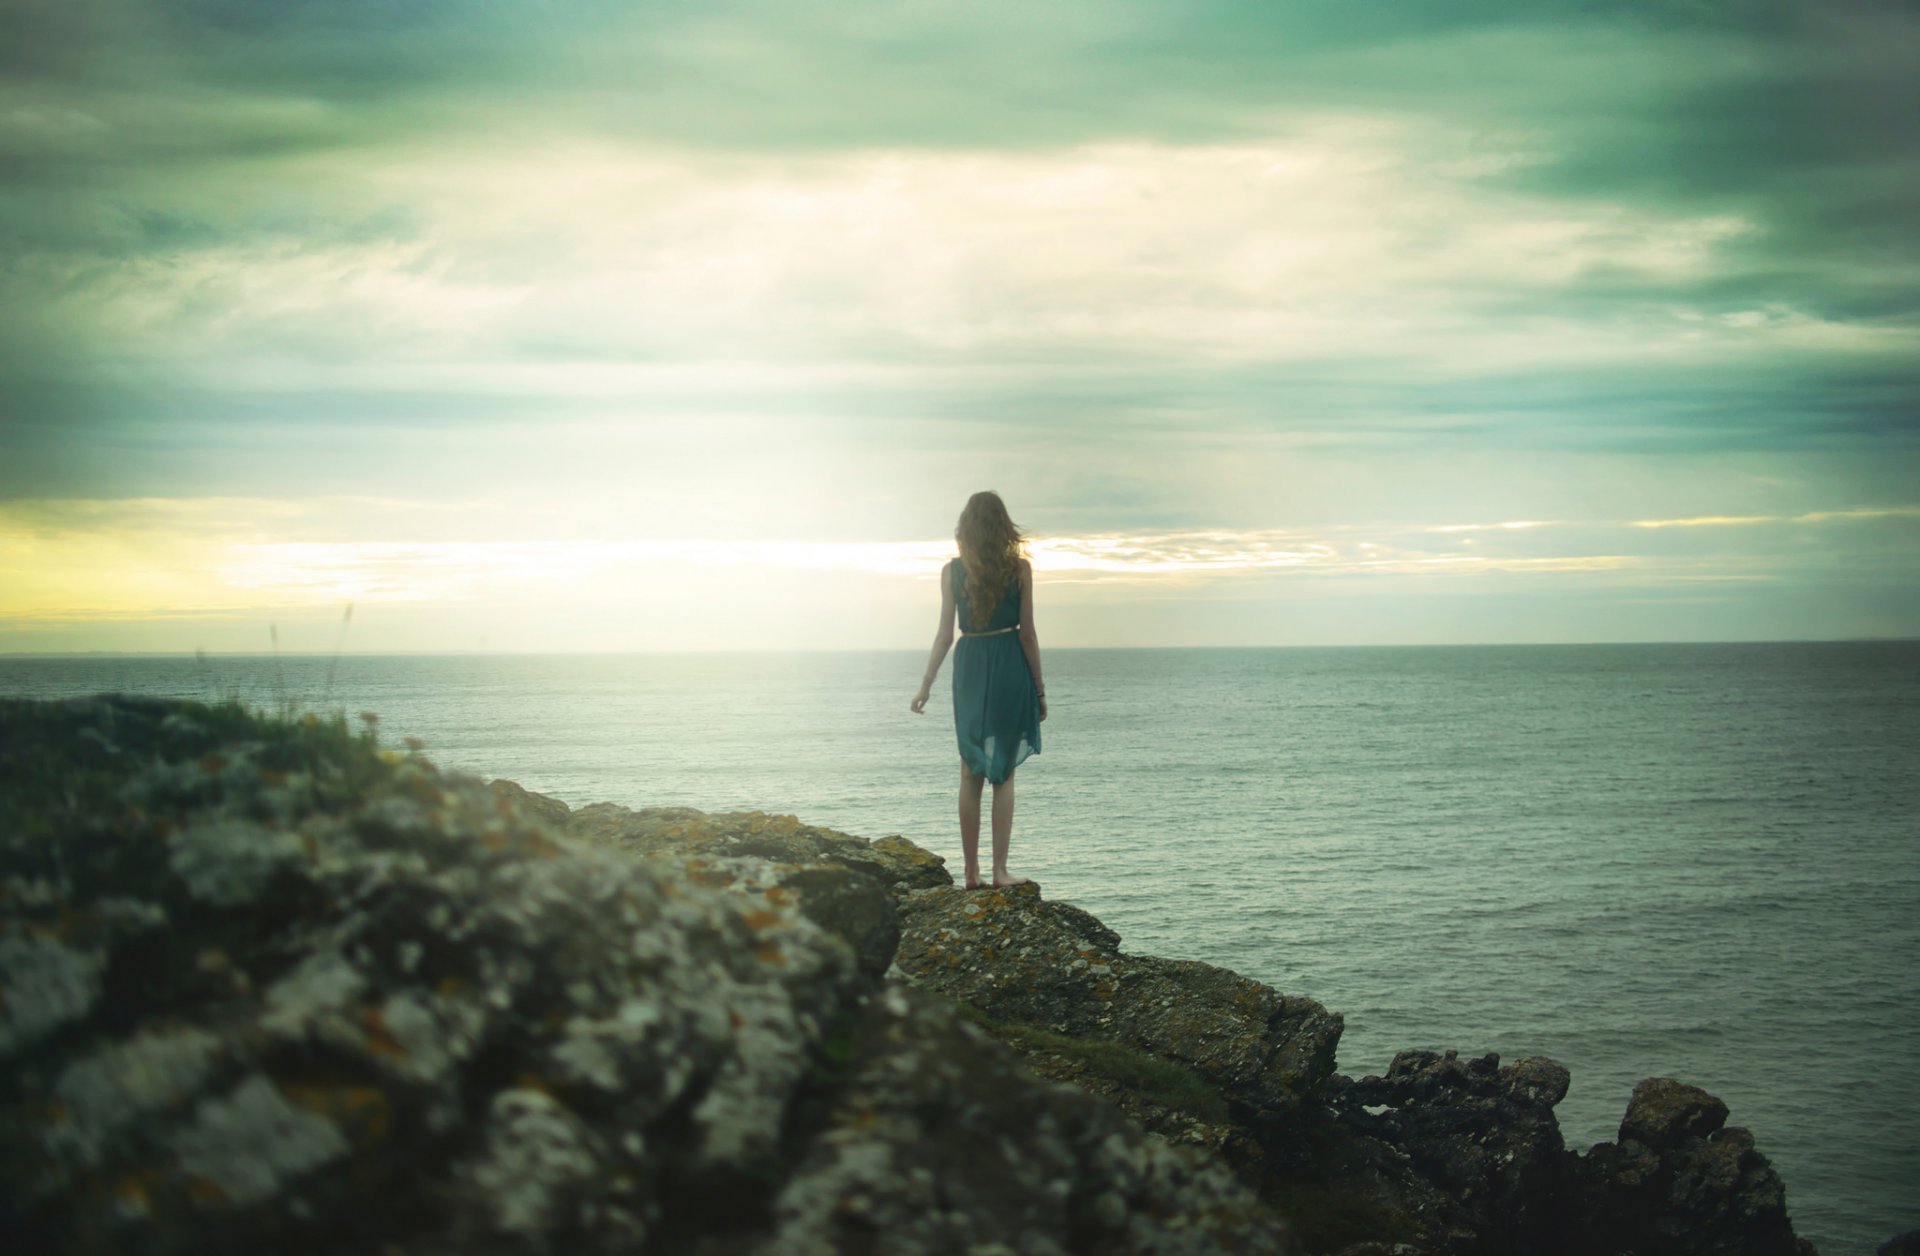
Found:
[[[0,653],[1920,636],[1914,223],[1891,0],[8,0]]]

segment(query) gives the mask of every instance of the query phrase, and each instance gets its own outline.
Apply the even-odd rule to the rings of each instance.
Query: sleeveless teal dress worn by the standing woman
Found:
[[[1033,668],[1018,632],[968,636],[1020,624],[1020,580],[1006,588],[985,628],[973,628],[966,599],[966,565],[947,570],[960,603],[960,643],[954,645],[954,737],[960,759],[998,785],[1027,755],[1041,753],[1041,699],[1033,693]]]

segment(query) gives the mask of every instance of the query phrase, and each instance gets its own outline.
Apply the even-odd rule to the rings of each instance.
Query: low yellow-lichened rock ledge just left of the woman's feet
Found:
[[[764,810],[707,814],[691,807],[632,810],[612,803],[593,803],[572,812],[566,832],[595,845],[641,855],[708,858],[751,855],[781,864],[845,864],[897,895],[952,885],[945,860],[904,837],[868,841]]]

